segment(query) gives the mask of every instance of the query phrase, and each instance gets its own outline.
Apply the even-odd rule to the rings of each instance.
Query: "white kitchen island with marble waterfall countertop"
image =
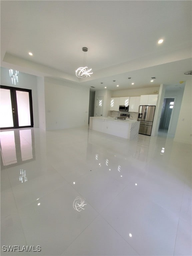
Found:
[[[135,119],[118,120],[115,117],[90,117],[89,129],[128,140],[138,138],[140,122]]]

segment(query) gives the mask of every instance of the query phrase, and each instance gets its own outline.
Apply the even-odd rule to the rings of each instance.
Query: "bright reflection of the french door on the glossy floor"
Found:
[[[33,130],[31,129],[0,132],[1,154],[4,166],[10,164],[18,165],[23,161],[35,159],[32,132]]]

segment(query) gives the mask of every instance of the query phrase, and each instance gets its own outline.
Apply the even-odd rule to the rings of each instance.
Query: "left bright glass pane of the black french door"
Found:
[[[11,91],[0,88],[0,127],[13,127]]]

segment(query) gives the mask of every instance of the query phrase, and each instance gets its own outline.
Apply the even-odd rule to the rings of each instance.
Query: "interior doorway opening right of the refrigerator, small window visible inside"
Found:
[[[164,98],[158,131],[168,132],[173,115],[174,102],[175,98]]]

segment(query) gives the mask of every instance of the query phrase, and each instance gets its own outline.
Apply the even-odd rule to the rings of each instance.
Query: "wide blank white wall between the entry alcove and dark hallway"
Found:
[[[44,81],[46,130],[88,125],[89,88],[46,77]]]

